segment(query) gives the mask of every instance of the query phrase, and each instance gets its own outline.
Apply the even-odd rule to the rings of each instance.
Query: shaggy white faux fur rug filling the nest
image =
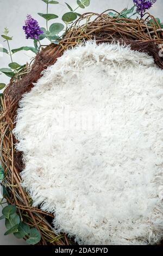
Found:
[[[116,44],[68,50],[18,109],[14,134],[34,206],[80,244],[163,237],[163,71]]]

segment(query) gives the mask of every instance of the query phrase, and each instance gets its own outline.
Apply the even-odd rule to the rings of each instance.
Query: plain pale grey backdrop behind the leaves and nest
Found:
[[[76,7],[76,0],[65,0],[72,7]],[[53,22],[60,22],[60,17],[66,11],[64,0],[58,0],[60,4],[51,5],[49,11],[55,13],[59,16],[58,19],[55,19]],[[151,14],[155,17],[159,17],[163,22],[163,0],[157,0],[151,9]],[[85,11],[93,11],[96,13],[101,13],[106,9],[115,9],[121,11],[125,7],[132,7],[132,0],[91,0],[91,4],[88,8],[79,9],[79,13],[84,13]],[[24,20],[26,19],[27,14],[31,14],[35,19],[39,21],[41,27],[45,27],[45,20],[37,15],[37,13],[46,13],[46,4],[41,0],[0,0],[0,34],[3,33],[4,27],[8,27],[10,30],[10,35],[13,36],[11,41],[11,48],[18,48],[21,46],[33,46],[33,42],[30,39],[26,39],[22,26]],[[49,22],[50,24],[50,22]],[[0,38],[0,47],[7,48],[7,45],[3,42],[3,39]],[[13,56],[13,61],[24,64],[30,61],[32,54],[30,52],[19,52]],[[0,67],[6,68],[8,63],[10,63],[10,58],[7,55],[0,55]],[[4,75],[0,76],[0,82],[8,83],[8,78]],[[1,196],[0,196],[1,198]],[[0,206],[1,208],[1,206]],[[0,209],[1,216],[1,209]],[[26,243],[23,240],[16,239],[13,235],[4,236],[5,226],[4,221],[0,221],[0,245],[25,245]]]

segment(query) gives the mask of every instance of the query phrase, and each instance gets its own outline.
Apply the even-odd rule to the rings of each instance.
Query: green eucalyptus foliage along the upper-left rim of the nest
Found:
[[[16,74],[18,74],[19,72],[21,72],[24,68],[25,65],[20,65],[16,62],[13,62],[12,60],[12,55],[15,54],[16,52],[19,51],[32,51],[35,54],[37,54],[37,52],[40,51],[40,48],[42,48],[43,45],[41,45],[40,41],[47,38],[50,42],[53,42],[54,44],[59,44],[59,40],[62,38],[62,35],[59,36],[60,32],[63,32],[62,34],[65,33],[65,30],[67,29],[68,25],[77,19],[78,16],[80,16],[80,14],[78,14],[76,12],[76,10],[78,8],[86,8],[89,6],[90,4],[90,0],[77,0],[77,7],[73,10],[73,8],[70,6],[70,4],[65,3],[67,8],[70,10],[67,13],[65,13],[64,15],[62,15],[62,21],[65,23],[66,25],[66,29],[64,24],[62,23],[53,23],[51,26],[48,27],[48,22],[53,20],[53,19],[57,19],[58,15],[57,14],[53,14],[53,13],[49,13],[49,5],[52,4],[59,4],[58,1],[53,1],[53,0],[41,0],[46,4],[46,13],[38,13],[39,16],[41,16],[43,19],[46,20],[46,28],[41,27],[41,30],[43,31],[43,34],[41,34],[39,36],[39,40],[35,40],[34,39],[34,47],[29,47],[29,46],[22,46],[19,48],[15,48],[12,49],[10,48],[10,41],[12,40],[12,36],[9,36],[9,29],[5,28],[4,29],[4,34],[1,35],[4,40],[4,42],[7,42],[8,45],[8,50],[7,48],[3,48],[0,47],[0,52],[3,52],[5,54],[8,54],[10,56],[11,59],[11,63],[9,63],[9,67],[8,68],[1,68],[0,72],[2,72],[4,75],[12,78],[14,77]],[[40,44],[40,45],[38,45]],[[0,90],[3,89],[6,86],[6,84],[4,83],[0,83]]]

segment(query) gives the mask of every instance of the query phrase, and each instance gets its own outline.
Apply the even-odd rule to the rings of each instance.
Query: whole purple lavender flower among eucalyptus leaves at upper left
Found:
[[[25,26],[23,26],[26,38],[39,39],[39,35],[43,34],[43,31],[39,27],[39,23],[32,18],[31,15],[27,15],[27,20],[25,21]]]

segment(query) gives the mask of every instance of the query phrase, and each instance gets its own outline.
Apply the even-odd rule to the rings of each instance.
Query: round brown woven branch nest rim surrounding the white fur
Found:
[[[163,69],[163,58],[159,57],[160,46],[163,44],[163,31],[158,21],[146,14],[145,20],[114,18],[107,14],[86,13],[77,20],[65,33],[59,45],[51,44],[37,54],[32,66],[27,66],[22,74],[12,78],[1,97],[0,115],[0,161],[4,168],[4,187],[7,202],[17,206],[17,214],[29,226],[35,226],[40,231],[40,245],[71,245],[74,241],[66,234],[59,236],[53,233],[52,220],[54,216],[32,206],[32,199],[21,187],[20,172],[24,168],[22,153],[16,152],[16,139],[12,135],[18,102],[24,93],[29,92],[33,83],[40,77],[47,66],[54,64],[65,50],[86,40],[102,42],[119,41],[120,44],[131,46],[132,50],[147,52],[154,57],[155,63]],[[154,22],[150,20],[153,19]]]

